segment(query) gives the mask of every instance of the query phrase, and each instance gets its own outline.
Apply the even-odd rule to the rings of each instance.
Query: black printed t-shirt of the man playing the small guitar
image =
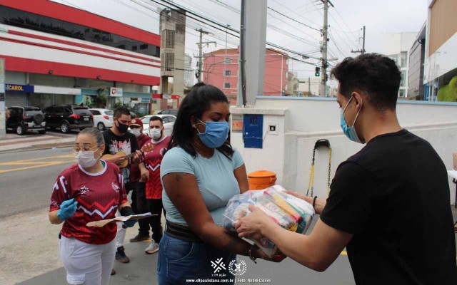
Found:
[[[126,155],[130,155],[136,152],[136,150],[139,150],[138,142],[132,133],[127,132],[119,136],[115,135],[111,130],[105,130],[103,136],[105,138],[104,155],[115,155],[118,152],[124,152]],[[128,183],[130,181],[130,160],[127,167],[121,168],[121,173],[124,176],[124,182]]]

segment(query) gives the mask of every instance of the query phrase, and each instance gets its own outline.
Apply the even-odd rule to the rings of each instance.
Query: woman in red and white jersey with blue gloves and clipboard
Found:
[[[51,196],[49,220],[64,223],[59,235],[59,254],[69,284],[109,284],[116,245],[116,224],[86,227],[88,222],[134,214],[127,202],[124,178],[114,163],[100,157],[104,137],[96,128],[76,136],[73,152],[78,163],[57,177]],[[133,227],[136,220],[124,222]]]

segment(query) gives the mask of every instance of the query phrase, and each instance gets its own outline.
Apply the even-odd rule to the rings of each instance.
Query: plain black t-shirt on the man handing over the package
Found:
[[[348,232],[356,284],[457,284],[446,167],[407,130],[379,135],[341,163],[321,219]]]

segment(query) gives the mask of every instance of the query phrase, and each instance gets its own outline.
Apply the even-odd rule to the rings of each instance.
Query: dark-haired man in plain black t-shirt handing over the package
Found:
[[[331,71],[339,81],[341,128],[361,151],[341,163],[328,199],[304,197],[321,214],[309,236],[278,227],[260,209],[236,224],[283,254],[324,271],[346,247],[356,284],[457,284],[456,240],[446,167],[396,117],[401,73],[367,53]],[[347,123],[346,123],[347,122]]]

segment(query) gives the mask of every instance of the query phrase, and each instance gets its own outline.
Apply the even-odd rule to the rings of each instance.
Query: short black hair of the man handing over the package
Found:
[[[375,110],[395,110],[401,72],[391,58],[378,53],[345,58],[330,76],[339,81],[338,92],[344,97],[350,98],[353,91],[365,93]]]

